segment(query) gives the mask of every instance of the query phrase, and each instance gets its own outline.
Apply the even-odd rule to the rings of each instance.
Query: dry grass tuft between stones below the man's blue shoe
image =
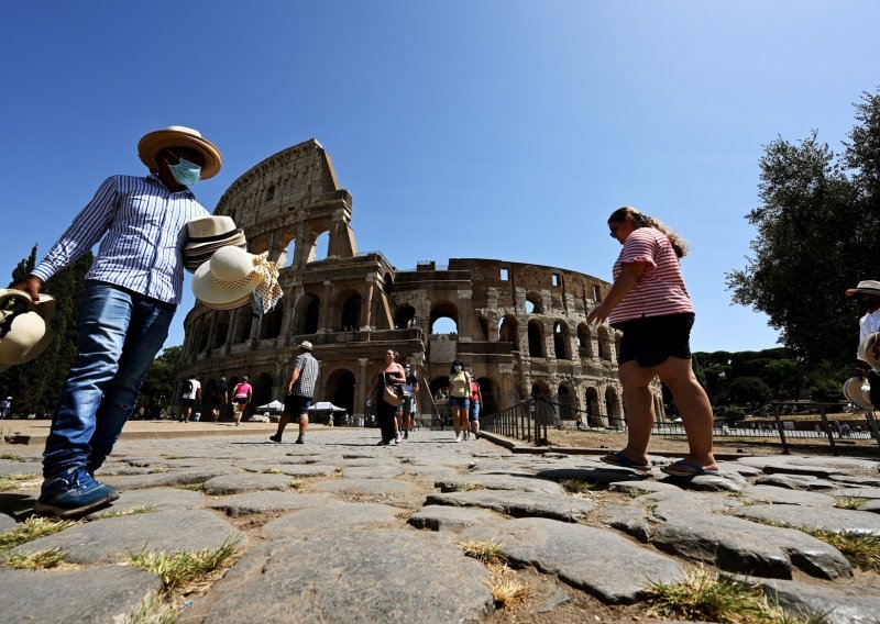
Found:
[[[129,556],[129,565],[146,570],[162,579],[166,594],[186,595],[207,588],[232,566],[241,554],[239,541],[228,537],[222,545],[205,550],[177,550]]]

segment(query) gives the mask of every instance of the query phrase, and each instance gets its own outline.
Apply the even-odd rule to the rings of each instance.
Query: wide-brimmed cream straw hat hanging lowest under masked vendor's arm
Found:
[[[255,270],[256,256],[239,247],[215,252],[193,277],[193,294],[215,310],[231,310],[248,302],[263,277]]]

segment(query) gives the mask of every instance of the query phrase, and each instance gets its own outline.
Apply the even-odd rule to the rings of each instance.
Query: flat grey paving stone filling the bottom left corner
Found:
[[[125,621],[162,581],[128,566],[76,571],[0,569],[0,622],[69,624]]]

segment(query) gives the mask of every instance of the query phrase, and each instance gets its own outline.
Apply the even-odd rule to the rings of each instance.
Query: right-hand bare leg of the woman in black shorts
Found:
[[[712,454],[712,404],[706,391],[694,376],[691,360],[670,357],[652,369],[669,387],[681,414],[682,425],[688,435],[688,446],[691,449],[686,459],[696,461],[704,468],[716,468],[715,457]]]

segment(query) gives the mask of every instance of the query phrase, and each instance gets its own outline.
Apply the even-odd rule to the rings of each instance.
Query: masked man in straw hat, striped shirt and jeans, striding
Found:
[[[222,164],[212,143],[184,126],[146,134],[138,155],[150,175],[107,178],[43,261],[12,287],[36,301],[45,280],[100,241],[86,275],[79,352],[43,453],[37,513],[81,515],[119,498],[94,475],[134,410],[180,302],[186,223],[209,215],[190,187]]]

